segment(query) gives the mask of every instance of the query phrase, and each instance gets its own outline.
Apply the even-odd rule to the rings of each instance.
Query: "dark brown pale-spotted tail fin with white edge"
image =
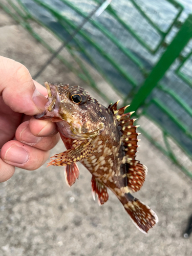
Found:
[[[143,233],[147,233],[158,222],[155,212],[137,198],[124,204],[124,208],[136,227]]]

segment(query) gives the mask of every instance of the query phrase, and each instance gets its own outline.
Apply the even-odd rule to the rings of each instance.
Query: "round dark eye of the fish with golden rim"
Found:
[[[87,102],[87,93],[81,88],[75,88],[68,93],[68,98],[75,104],[82,105]]]

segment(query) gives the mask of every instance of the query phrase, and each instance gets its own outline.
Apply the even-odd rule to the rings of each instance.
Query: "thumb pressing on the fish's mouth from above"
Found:
[[[21,63],[2,56],[0,56],[0,95],[14,112],[30,116],[44,111],[47,102],[47,99],[36,90],[28,69]]]

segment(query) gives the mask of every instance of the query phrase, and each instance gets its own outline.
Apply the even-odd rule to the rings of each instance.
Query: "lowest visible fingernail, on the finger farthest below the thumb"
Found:
[[[23,147],[12,145],[5,153],[5,160],[19,164],[27,163],[29,153]]]

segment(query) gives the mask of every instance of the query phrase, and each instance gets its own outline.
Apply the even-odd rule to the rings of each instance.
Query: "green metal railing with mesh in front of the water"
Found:
[[[144,8],[145,1],[142,4],[138,4],[136,0],[127,0],[128,2],[129,6],[125,7],[130,8],[129,15],[133,15],[135,23],[131,23],[127,19],[126,11],[123,13],[118,8],[121,1],[113,0],[100,17],[90,18],[86,26],[79,30],[73,40],[67,44],[66,49],[73,61],[76,62],[76,66],[74,67],[72,62],[63,58],[61,54],[58,54],[57,58],[83,82],[93,87],[106,101],[111,102],[99,88],[97,81],[92,78],[92,73],[87,65],[89,63],[103,80],[120,95],[123,104],[131,103],[129,111],[136,111],[135,115],[139,118],[138,122],[143,116],[161,129],[163,143],[154,138],[150,129],[145,129],[144,126],[140,128],[153,144],[192,178],[192,104],[190,100],[186,100],[184,97],[184,95],[191,95],[192,97],[192,77],[185,72],[186,63],[190,62],[192,50],[187,50],[187,54],[183,53],[186,47],[189,48],[192,37],[192,15],[189,14],[182,23],[180,16],[184,11],[183,6],[175,0],[165,0],[164,2],[172,6],[175,15],[169,23],[167,20],[166,28],[162,28],[158,22],[159,18],[152,17]],[[31,3],[46,10],[67,36],[72,35],[82,19],[88,16],[87,9],[83,9],[83,5],[78,5],[78,1],[77,4],[74,4],[69,0],[60,0],[63,6],[72,10],[71,14],[68,13],[68,15],[63,14],[62,8],[57,8],[56,5],[45,0],[33,0]],[[92,7],[91,9],[99,7],[102,3],[103,1],[99,0],[87,2],[90,8]],[[123,3],[125,5],[125,2]],[[55,53],[56,49],[49,45],[49,42],[39,33],[35,32],[32,22],[47,29],[59,41],[67,42],[67,38],[63,37],[62,32],[56,31],[54,27],[44,23],[40,19],[40,15],[35,15],[32,8],[25,5],[22,0],[8,0],[4,4],[0,2],[0,7],[27,29],[51,53]],[[109,20],[110,23],[107,23]],[[151,31],[151,35],[147,35],[147,37],[153,34],[156,38],[154,44],[147,41],[147,32],[141,33],[145,29],[143,24],[146,25],[148,31]],[[114,26],[117,31],[121,30],[124,36],[133,38],[134,47],[127,45],[124,37],[121,38],[118,33],[115,34]],[[178,33],[174,35],[175,29],[178,30]],[[90,31],[95,31],[95,33],[92,34]],[[151,41],[153,42],[153,40]],[[111,49],[113,50],[111,51]],[[122,55],[122,59],[118,59],[115,52],[118,52],[119,56]],[[147,59],[152,60],[150,69],[146,67]],[[103,66],[101,65],[102,62]],[[132,72],[132,66],[135,73]],[[192,63],[187,66],[189,70],[190,67],[192,67]],[[121,86],[117,85],[114,77],[108,72],[109,69],[111,73],[115,74],[115,77],[119,78]],[[171,74],[170,77],[176,76],[177,81],[179,81],[178,84],[182,84],[178,91],[173,82],[166,80],[168,73]],[[184,86],[185,90],[183,89]],[[168,99],[167,102],[165,98]],[[157,110],[156,114],[153,113],[153,109]],[[164,116],[167,122],[161,116]],[[186,155],[187,165],[183,163],[178,154],[175,154],[172,141]]]

